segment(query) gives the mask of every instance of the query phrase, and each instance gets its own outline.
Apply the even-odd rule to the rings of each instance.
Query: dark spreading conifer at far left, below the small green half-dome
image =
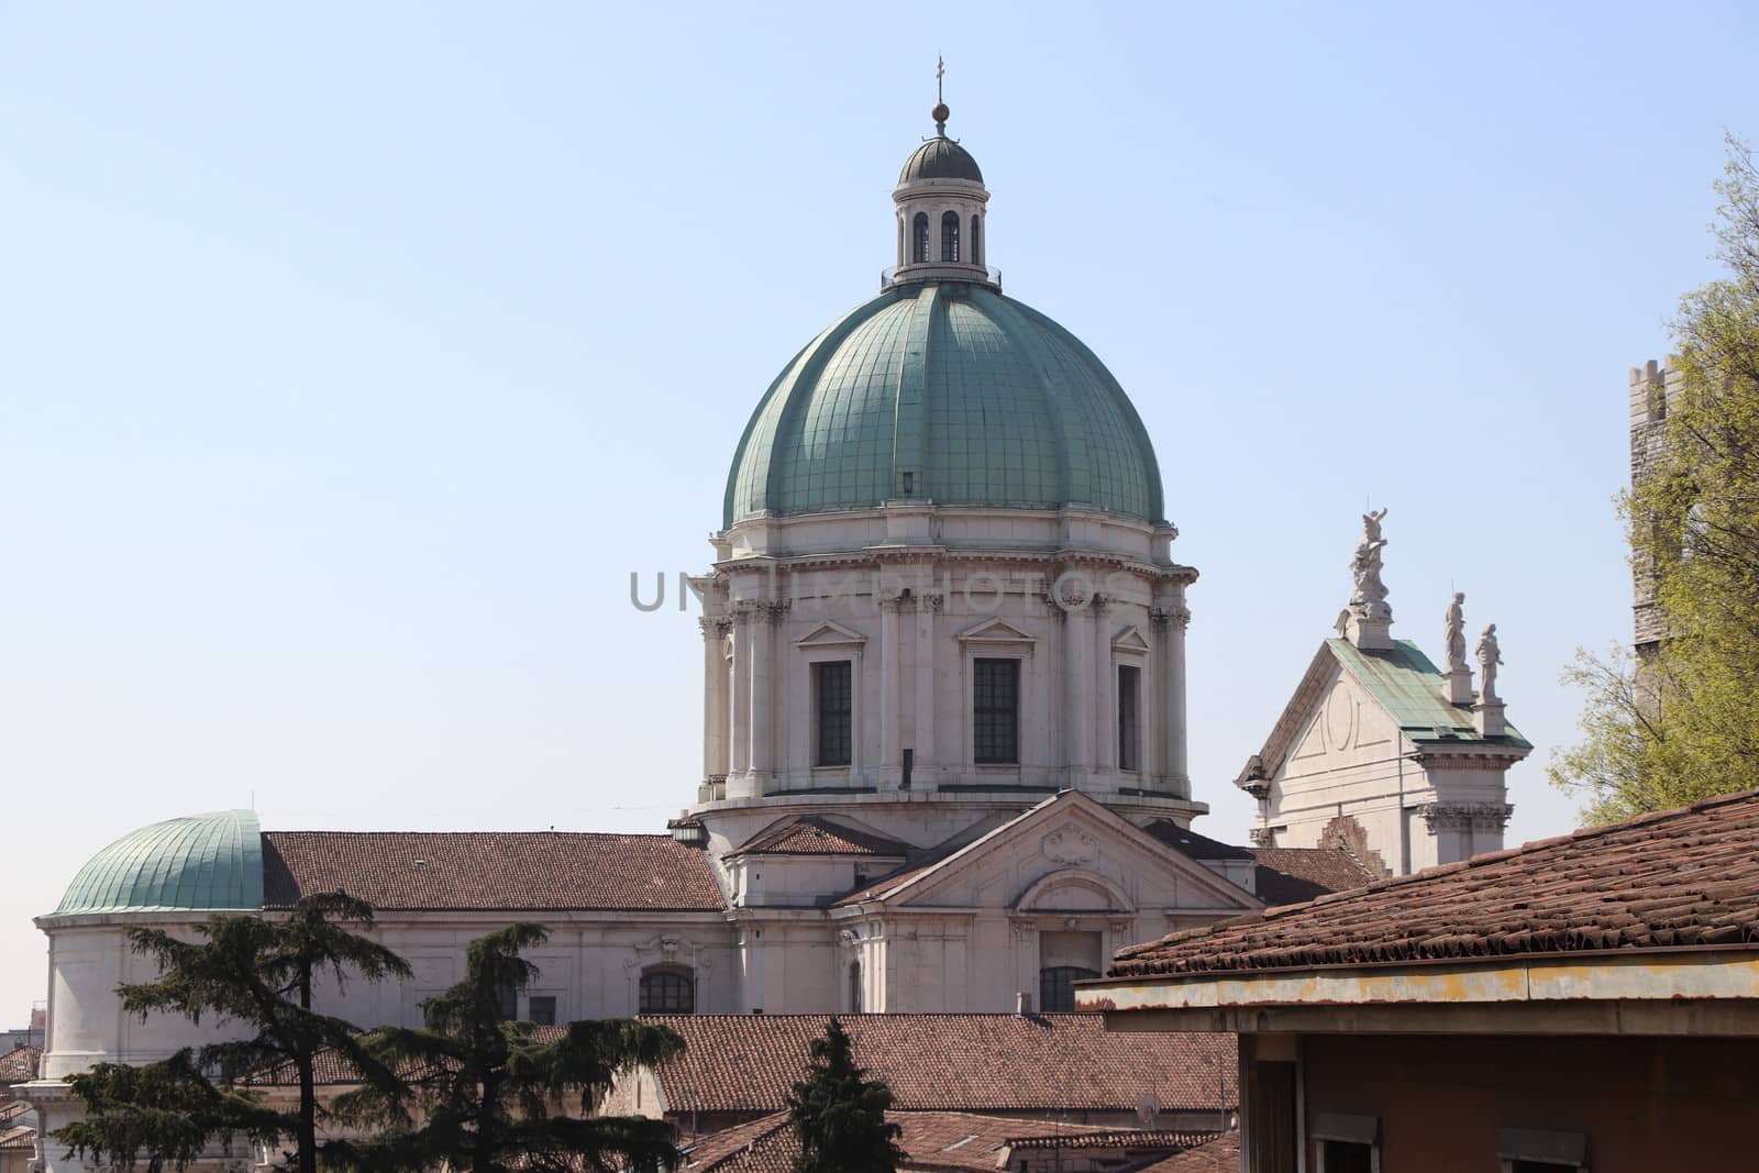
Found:
[[[315,1062],[336,1052],[362,1078],[398,1087],[396,1076],[362,1045],[355,1027],[311,1009],[313,987],[325,974],[343,985],[350,976],[382,981],[408,976],[408,964],[382,944],[357,936],[373,925],[373,906],[339,892],[310,895],[287,914],[213,916],[197,941],[158,929],[134,929],[137,953],[160,964],[155,981],[121,987],[127,1013],[174,1013],[201,1022],[239,1022],[255,1029],[246,1039],[186,1048],[144,1067],[100,1064],[72,1078],[86,1118],[55,1133],[72,1155],[132,1168],[144,1161],[157,1173],[167,1162],[183,1168],[215,1140],[246,1136],[276,1145],[294,1140],[299,1173],[318,1168]],[[259,1071],[288,1071],[299,1083],[294,1111],[273,1111],[239,1090]]]

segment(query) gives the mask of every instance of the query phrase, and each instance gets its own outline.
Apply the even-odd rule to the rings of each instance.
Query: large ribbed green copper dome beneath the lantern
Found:
[[[1154,447],[1112,373],[976,281],[895,285],[795,355],[739,441],[725,524],[906,498],[1164,517]]]

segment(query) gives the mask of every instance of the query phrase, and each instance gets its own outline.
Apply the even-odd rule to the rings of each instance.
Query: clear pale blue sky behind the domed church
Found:
[[[695,795],[756,397],[892,260],[931,130],[1010,294],[1154,436],[1208,834],[1386,505],[1395,633],[1495,621],[1511,841],[1627,638],[1625,369],[1759,137],[1747,4],[0,0],[0,1025],[160,818],[642,828]]]

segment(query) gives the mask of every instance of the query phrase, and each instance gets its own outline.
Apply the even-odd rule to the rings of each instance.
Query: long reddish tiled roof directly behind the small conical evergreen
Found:
[[[653,1015],[684,1052],[660,1066],[667,1111],[776,1111],[828,1015]],[[1226,1034],[1108,1034],[1099,1015],[848,1015],[855,1062],[899,1111],[1135,1111],[1231,1108]],[[1221,1087],[1217,1087],[1217,1064]],[[1217,1104],[1217,1094],[1230,1103]]]

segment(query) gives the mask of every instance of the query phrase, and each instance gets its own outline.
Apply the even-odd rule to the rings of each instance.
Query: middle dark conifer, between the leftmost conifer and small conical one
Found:
[[[471,941],[464,980],[424,1002],[426,1029],[371,1039],[376,1062],[401,1069],[413,1090],[362,1087],[336,1101],[339,1118],[368,1133],[336,1141],[325,1161],[361,1173],[577,1173],[670,1169],[675,1129],[642,1117],[561,1115],[579,1096],[595,1108],[623,1067],[675,1055],[677,1032],[631,1020],[570,1022],[559,1032],[507,1022],[503,997],[536,967],[521,953],[547,939],[515,923]]]

